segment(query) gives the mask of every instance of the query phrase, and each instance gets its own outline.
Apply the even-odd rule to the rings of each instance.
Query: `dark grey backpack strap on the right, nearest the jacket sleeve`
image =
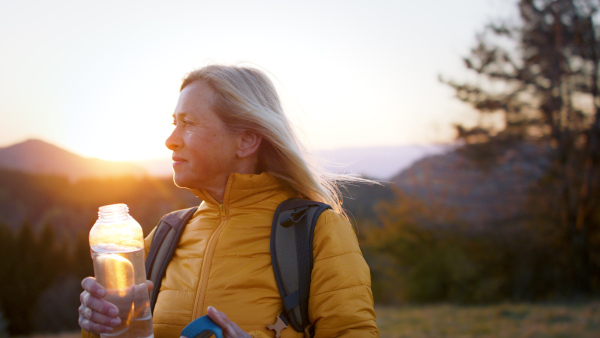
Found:
[[[308,297],[313,267],[313,234],[327,204],[293,198],[282,202],[273,216],[271,260],[283,300],[282,317],[298,332],[310,325]]]

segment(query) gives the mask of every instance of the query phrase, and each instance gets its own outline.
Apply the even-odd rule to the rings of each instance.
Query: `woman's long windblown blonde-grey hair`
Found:
[[[284,114],[273,83],[260,70],[210,65],[187,74],[180,90],[203,81],[214,91],[213,110],[233,133],[253,131],[262,136],[259,171],[278,177],[301,197],[324,202],[345,215],[337,183],[367,181],[330,174],[309,163]]]

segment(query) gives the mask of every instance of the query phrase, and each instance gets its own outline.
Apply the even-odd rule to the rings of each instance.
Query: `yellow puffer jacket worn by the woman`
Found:
[[[154,336],[179,337],[213,306],[253,337],[275,337],[282,301],[271,265],[273,214],[293,191],[269,174],[232,174],[223,203],[203,191],[160,287]],[[153,232],[146,239],[150,247]],[[377,337],[369,268],[351,225],[326,210],[315,228],[309,319],[315,337]],[[303,337],[288,327],[281,337]]]

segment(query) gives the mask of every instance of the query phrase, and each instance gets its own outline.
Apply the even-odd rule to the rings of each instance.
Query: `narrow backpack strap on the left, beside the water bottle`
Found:
[[[150,292],[152,313],[154,313],[154,304],[156,304],[160,284],[165,271],[167,271],[167,265],[169,265],[169,261],[175,252],[185,225],[196,210],[198,210],[198,207],[174,211],[165,215],[156,227],[146,257],[146,278],[154,283],[154,288]]]

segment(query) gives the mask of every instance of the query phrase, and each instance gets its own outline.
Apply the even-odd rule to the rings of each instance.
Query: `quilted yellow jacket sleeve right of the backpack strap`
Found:
[[[309,319],[315,337],[378,337],[371,276],[352,226],[332,210],[313,239]]]

